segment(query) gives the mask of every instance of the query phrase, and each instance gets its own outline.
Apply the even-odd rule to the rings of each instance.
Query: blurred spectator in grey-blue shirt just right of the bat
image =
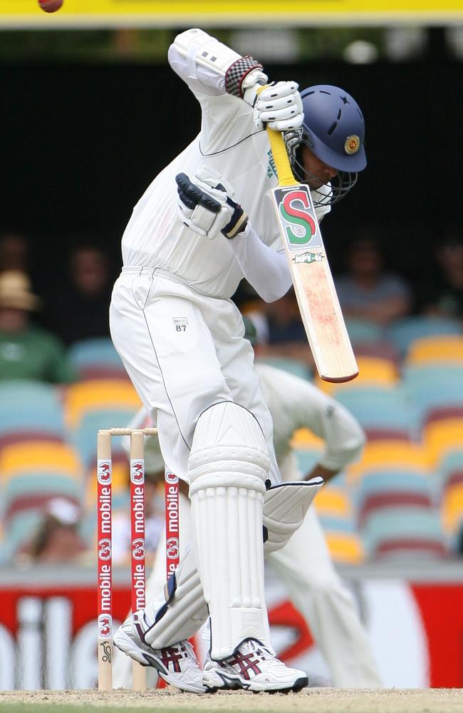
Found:
[[[385,270],[383,250],[370,237],[348,245],[347,270],[335,280],[344,317],[386,325],[410,313],[412,294],[405,279]]]

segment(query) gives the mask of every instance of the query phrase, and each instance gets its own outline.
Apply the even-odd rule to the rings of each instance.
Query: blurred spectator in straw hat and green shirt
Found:
[[[55,335],[31,324],[40,304],[26,273],[0,273],[0,379],[61,384],[76,378]]]

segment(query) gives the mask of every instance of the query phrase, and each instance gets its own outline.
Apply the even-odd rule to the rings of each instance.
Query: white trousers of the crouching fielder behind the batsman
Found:
[[[180,557],[192,542],[189,500],[180,495]],[[337,688],[382,686],[368,635],[350,592],[331,562],[325,536],[313,506],[301,527],[282,550],[266,558],[303,615]],[[155,565],[147,580],[147,601],[165,585],[165,534],[160,538]],[[114,686],[130,688],[132,660],[115,651]],[[153,680],[154,678],[154,680]],[[152,685],[156,674],[153,673]]]

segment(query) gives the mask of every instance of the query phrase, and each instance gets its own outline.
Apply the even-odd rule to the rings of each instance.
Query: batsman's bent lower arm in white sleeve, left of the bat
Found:
[[[288,292],[292,282],[286,255],[264,245],[251,225],[229,244],[244,277],[265,302],[274,302]]]

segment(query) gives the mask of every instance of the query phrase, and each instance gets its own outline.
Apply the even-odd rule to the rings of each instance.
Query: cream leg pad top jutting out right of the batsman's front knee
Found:
[[[281,550],[302,525],[313,498],[323,486],[323,478],[281,483],[265,493],[264,553]]]

